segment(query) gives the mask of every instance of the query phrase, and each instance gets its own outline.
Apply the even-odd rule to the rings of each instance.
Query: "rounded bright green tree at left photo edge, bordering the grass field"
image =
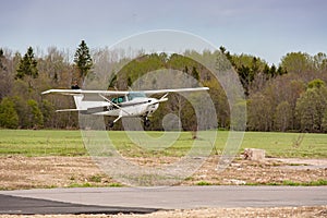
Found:
[[[19,126],[19,114],[10,98],[3,98],[0,104],[0,126],[15,129]]]

